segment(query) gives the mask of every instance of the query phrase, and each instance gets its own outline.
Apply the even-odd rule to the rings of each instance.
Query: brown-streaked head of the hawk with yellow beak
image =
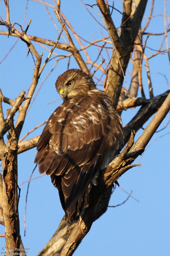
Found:
[[[56,89],[63,101],[87,93],[96,88],[93,79],[80,69],[69,69],[56,81]]]

